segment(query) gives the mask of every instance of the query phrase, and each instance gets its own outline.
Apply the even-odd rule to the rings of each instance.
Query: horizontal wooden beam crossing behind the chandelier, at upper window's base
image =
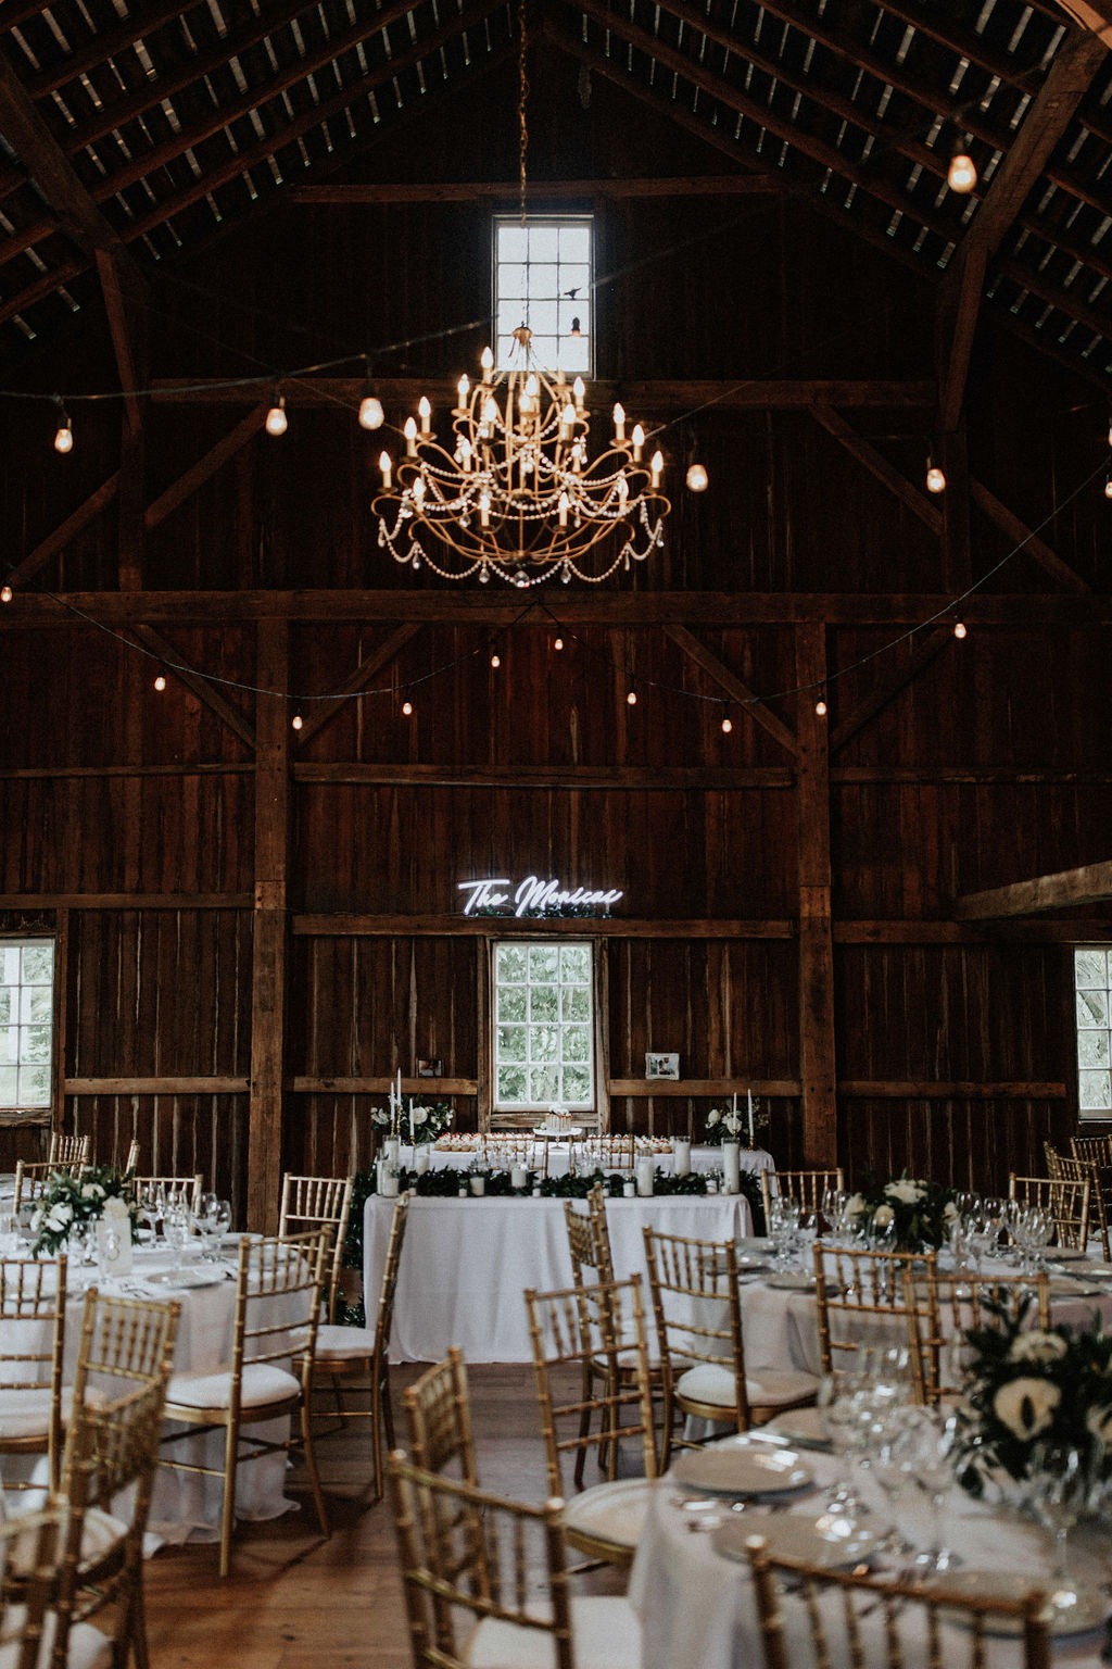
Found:
[[[258,384],[273,382],[272,377],[260,377]],[[383,406],[405,411],[417,407],[422,394],[427,394],[433,407],[447,411],[457,401],[457,379],[453,377],[377,377],[375,386]],[[283,384],[285,404],[288,407],[320,406],[335,411],[347,406],[352,412],[358,409],[362,396],[360,377],[298,377],[297,382]],[[243,406],[258,397],[257,384],[237,384],[213,387],[213,379],[155,379],[152,399],[157,404],[192,404],[192,406]],[[894,377],[805,377],[762,381],[749,377],[742,382],[732,379],[599,379],[590,384],[590,402],[602,409],[615,399],[644,406],[654,412],[690,411],[694,406],[715,406],[722,411],[810,411],[812,406],[849,407],[884,407],[892,411],[929,411],[935,402],[935,386],[929,379],[900,381]]]

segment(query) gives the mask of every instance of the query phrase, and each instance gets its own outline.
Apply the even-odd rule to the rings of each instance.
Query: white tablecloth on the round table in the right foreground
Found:
[[[815,1472],[819,1484],[835,1477],[835,1462],[827,1455],[800,1452],[800,1459]],[[890,1522],[884,1500],[867,1474],[859,1472],[862,1497],[874,1505],[869,1527],[882,1529]],[[654,1494],[645,1532],[642,1535],[629,1597],[642,1619],[642,1669],[739,1669],[762,1661],[757,1637],[757,1614],[747,1566],[715,1552],[712,1535],[692,1534],[694,1514],[675,1505],[677,1484],[664,1477]],[[792,1512],[822,1510],[824,1499],[817,1490],[792,1502]],[[757,1509],[747,1509],[744,1522],[760,1530]],[[929,1517],[925,1497],[899,1497],[897,1522],[905,1535],[919,1545],[929,1542]],[[944,1539],[964,1561],[964,1569],[992,1569],[1019,1572],[1037,1586],[1049,1571],[1049,1540],[1030,1522],[1007,1512],[990,1512],[954,1487],[944,1512]],[[1109,1576],[1107,1534],[1082,1525],[1070,1535],[1070,1576],[1075,1581],[1100,1584]],[[899,1561],[897,1561],[899,1564]],[[1112,1609],[1112,1601],[1109,1601]],[[789,1627],[789,1652],[792,1627],[799,1626],[795,1606],[785,1607]],[[960,1636],[969,1647],[969,1636]],[[990,1641],[987,1661],[994,1666],[1015,1666],[1015,1642]],[[1070,1636],[1054,1642],[1054,1664],[1077,1664],[1097,1669],[1100,1664],[1100,1632]],[[914,1642],[912,1642],[914,1649]],[[967,1661],[965,1652],[960,1662]],[[957,1636],[955,1636],[957,1656]],[[804,1659],[800,1659],[804,1661]],[[807,1657],[805,1661],[810,1661]],[[944,1639],[945,1661],[945,1639]],[[842,1669],[842,1666],[835,1666]],[[910,1669],[910,1659],[909,1659]]]

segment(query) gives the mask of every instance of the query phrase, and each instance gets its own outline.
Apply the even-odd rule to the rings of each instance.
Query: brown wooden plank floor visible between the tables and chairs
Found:
[[[420,1367],[393,1369],[398,1440],[400,1392]],[[485,1489],[543,1500],[545,1469],[532,1369],[472,1367],[470,1400]],[[370,1444],[363,1425],[318,1445],[332,1535],[317,1532],[312,1499],[293,1472],[302,1510],[268,1524],[243,1524],[232,1574],[217,1576],[217,1547],[167,1547],[147,1562],[147,1632],[152,1669],[410,1669],[397,1576],[393,1525],[385,1502],[370,1505]],[[625,1574],[585,1579],[594,1592],[622,1592]]]

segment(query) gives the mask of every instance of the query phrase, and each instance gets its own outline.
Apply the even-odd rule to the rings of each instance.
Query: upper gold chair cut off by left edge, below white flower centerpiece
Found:
[[[52,1489],[62,1477],[65,1297],[65,1253],[0,1258],[0,1455],[45,1454]]]

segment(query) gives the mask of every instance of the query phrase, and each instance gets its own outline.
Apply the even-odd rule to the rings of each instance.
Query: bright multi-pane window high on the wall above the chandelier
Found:
[[[513,330],[533,332],[532,357],[543,371],[594,374],[592,224],[577,219],[495,215],[493,317],[495,366],[522,364],[513,354]]]

